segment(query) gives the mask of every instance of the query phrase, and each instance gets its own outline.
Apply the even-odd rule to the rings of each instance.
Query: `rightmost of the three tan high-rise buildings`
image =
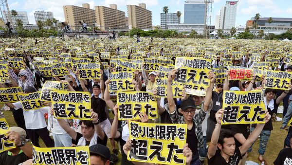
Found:
[[[133,27],[139,29],[152,28],[152,12],[146,9],[145,3],[137,5],[127,5],[129,29]]]

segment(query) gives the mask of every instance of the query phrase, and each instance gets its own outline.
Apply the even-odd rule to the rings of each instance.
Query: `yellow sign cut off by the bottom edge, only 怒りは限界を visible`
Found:
[[[51,148],[33,146],[33,165],[91,165],[89,146]]]

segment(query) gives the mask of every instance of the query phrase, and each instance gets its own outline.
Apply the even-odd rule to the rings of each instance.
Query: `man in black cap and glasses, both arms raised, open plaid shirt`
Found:
[[[187,136],[186,143],[188,147],[191,148],[193,156],[191,165],[200,164],[199,151],[198,148],[204,148],[204,137],[202,132],[202,122],[206,116],[206,113],[211,104],[212,89],[214,86],[215,75],[212,72],[208,73],[208,78],[210,79],[210,87],[208,87],[204,102],[200,106],[199,112],[195,115],[197,106],[193,98],[188,98],[182,101],[181,108],[183,116],[178,115],[176,110],[176,105],[173,100],[172,93],[172,80],[175,77],[178,70],[172,70],[168,73],[167,78],[167,106],[164,106],[167,111],[169,111],[170,118],[174,124],[187,124]]]

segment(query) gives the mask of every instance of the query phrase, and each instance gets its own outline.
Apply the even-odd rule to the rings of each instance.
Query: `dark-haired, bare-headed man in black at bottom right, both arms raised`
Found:
[[[217,124],[208,148],[208,165],[238,165],[242,155],[252,146],[264,128],[264,124],[258,124],[244,144],[236,148],[233,132],[228,129],[221,130],[223,111],[223,109],[220,109],[216,113]],[[267,113],[267,110],[265,113],[265,123],[267,123],[271,119],[271,115]]]

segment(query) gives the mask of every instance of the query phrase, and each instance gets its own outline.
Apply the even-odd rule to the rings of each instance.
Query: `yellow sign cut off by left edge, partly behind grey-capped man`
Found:
[[[6,132],[9,131],[9,126],[5,118],[0,118],[0,153],[8,149],[15,148],[14,142],[6,138]]]

